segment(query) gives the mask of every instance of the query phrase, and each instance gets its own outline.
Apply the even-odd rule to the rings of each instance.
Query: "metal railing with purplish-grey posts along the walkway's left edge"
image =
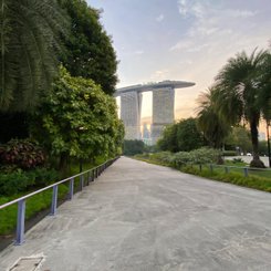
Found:
[[[14,199],[12,201],[9,201],[4,205],[0,206],[0,210],[9,207],[11,205],[18,204],[18,211],[17,211],[17,231],[15,231],[15,242],[14,244],[20,246],[24,242],[24,222],[25,222],[25,205],[27,205],[27,199],[33,197],[37,194],[43,192],[48,189],[52,189],[52,201],[51,201],[51,216],[56,215],[56,208],[58,208],[58,191],[59,191],[59,186],[65,183],[69,183],[69,200],[73,199],[74,195],[74,179],[80,178],[80,191],[83,190],[84,186],[88,186],[91,181],[94,181],[95,178],[97,178],[108,166],[111,166],[118,157],[107,160],[103,163],[102,165],[91,168],[86,171],[76,174],[74,176],[71,176],[69,178],[62,179],[58,183],[54,183],[50,186],[46,186],[42,189],[39,189],[37,191],[33,191],[31,194],[28,194],[21,198]]]

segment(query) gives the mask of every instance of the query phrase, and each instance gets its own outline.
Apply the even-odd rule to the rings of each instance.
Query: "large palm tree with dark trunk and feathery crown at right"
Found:
[[[219,90],[218,111],[232,125],[243,119],[249,124],[253,159],[251,166],[264,167],[259,158],[258,127],[262,113],[259,103],[261,94],[261,71],[268,51],[254,50],[251,55],[246,52],[231,58],[216,77]]]

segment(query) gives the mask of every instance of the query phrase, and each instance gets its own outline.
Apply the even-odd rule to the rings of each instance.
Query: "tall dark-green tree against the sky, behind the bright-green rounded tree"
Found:
[[[112,40],[100,22],[101,12],[84,0],[59,1],[72,20],[71,34],[64,39],[63,65],[72,76],[92,79],[103,92],[113,94],[117,61]]]

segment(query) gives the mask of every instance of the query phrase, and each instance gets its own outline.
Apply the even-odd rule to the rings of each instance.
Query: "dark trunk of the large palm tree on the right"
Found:
[[[265,166],[260,160],[260,156],[259,156],[258,122],[256,119],[252,119],[250,122],[250,135],[251,135],[252,155],[253,155],[253,159],[251,160],[250,166],[263,168]]]

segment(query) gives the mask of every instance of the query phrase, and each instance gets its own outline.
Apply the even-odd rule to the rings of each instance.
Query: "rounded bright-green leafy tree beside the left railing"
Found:
[[[115,155],[124,134],[115,100],[93,81],[72,77],[64,67],[60,75],[33,118],[32,134],[60,157],[61,169],[70,157]]]

